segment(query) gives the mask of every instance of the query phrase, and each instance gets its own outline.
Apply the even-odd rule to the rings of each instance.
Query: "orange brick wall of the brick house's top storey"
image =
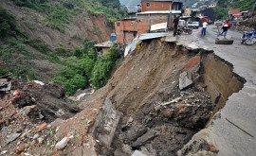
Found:
[[[149,4],[149,7],[147,7]],[[172,2],[153,2],[153,1],[142,1],[142,12],[150,10],[171,10]]]

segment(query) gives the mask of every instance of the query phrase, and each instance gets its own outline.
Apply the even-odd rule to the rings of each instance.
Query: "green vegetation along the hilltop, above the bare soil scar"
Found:
[[[50,2],[47,0],[12,0],[15,5],[35,9],[46,13],[46,25],[64,33],[64,26],[70,22],[71,15],[78,15],[86,9],[92,15],[104,15],[114,22],[127,15],[126,9],[120,7],[119,0],[65,0]],[[86,16],[87,17],[87,16]],[[28,25],[31,27],[31,25]]]

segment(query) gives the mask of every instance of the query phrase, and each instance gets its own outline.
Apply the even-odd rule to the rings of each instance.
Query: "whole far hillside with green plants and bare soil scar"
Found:
[[[93,45],[110,40],[113,21],[126,11],[118,0],[7,0],[0,1],[0,14],[0,75],[54,78],[70,94],[94,77],[98,58]]]

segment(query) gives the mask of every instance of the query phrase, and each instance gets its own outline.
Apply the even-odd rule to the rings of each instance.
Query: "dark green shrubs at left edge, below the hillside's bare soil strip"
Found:
[[[12,76],[16,78],[37,78],[36,66],[32,60],[39,59],[27,49],[27,44],[42,53],[46,60],[60,62],[59,57],[52,52],[46,43],[40,39],[30,38],[29,35],[16,26],[15,18],[3,8],[0,8],[0,57],[9,69]],[[1,67],[1,74],[7,74],[7,70]]]

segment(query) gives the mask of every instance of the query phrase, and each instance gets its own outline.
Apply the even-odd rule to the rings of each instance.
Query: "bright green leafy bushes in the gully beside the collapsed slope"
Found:
[[[119,49],[113,46],[107,54],[98,57],[92,46],[89,46],[93,42],[86,39],[83,48],[77,47],[77,56],[65,59],[64,67],[60,69],[61,76],[52,79],[64,84],[67,95],[75,93],[89,83],[101,88],[109,78],[119,57]]]

